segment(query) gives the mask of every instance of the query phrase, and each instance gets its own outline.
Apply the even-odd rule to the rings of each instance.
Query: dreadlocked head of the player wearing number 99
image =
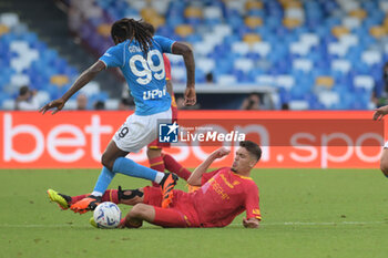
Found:
[[[152,45],[152,34],[141,20],[123,18],[114,22],[111,28],[111,37],[115,44],[125,40],[135,40],[144,53],[149,52],[150,45]]]

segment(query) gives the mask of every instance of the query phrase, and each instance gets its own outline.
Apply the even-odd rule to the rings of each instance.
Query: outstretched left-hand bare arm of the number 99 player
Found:
[[[43,114],[51,110],[55,109],[52,114],[55,114],[57,112],[61,111],[67,103],[67,101],[74,95],[75,92],[81,90],[84,85],[86,85],[90,81],[95,78],[95,75],[105,69],[105,64],[102,61],[95,62],[92,66],[90,66],[88,70],[85,70],[74,82],[74,84],[67,91],[63,96],[61,96],[58,100],[54,100],[48,104],[45,104],[42,109],[40,109],[40,112],[43,112]]]

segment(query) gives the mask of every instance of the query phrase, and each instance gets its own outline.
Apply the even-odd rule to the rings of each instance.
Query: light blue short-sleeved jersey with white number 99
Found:
[[[145,56],[137,41],[126,40],[110,48],[100,60],[106,68],[120,68],[135,102],[136,115],[167,111],[171,96],[166,89],[163,53],[171,53],[174,41],[155,35]]]

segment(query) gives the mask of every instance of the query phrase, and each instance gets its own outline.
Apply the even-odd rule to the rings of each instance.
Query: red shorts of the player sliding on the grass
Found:
[[[200,227],[196,210],[193,207],[190,194],[174,190],[170,208],[161,208],[162,190],[160,187],[144,187],[144,204],[155,208],[154,224],[162,227]]]

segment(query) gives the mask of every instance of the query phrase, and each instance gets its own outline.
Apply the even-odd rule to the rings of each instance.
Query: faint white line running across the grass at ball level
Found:
[[[388,221],[331,221],[331,223],[302,223],[302,221],[286,221],[286,223],[261,223],[261,226],[335,226],[335,225],[378,225],[378,224],[388,224]],[[242,226],[242,224],[231,224],[232,226]],[[69,225],[69,224],[59,224],[59,225],[10,225],[10,224],[0,224],[0,228],[89,228],[90,225],[85,224],[84,226],[80,225]]]

